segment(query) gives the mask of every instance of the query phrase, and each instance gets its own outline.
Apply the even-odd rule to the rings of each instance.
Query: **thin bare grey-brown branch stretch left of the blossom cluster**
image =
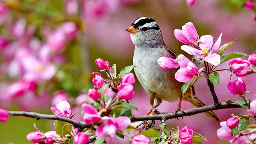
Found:
[[[39,114],[36,112],[10,111],[10,110],[8,112],[12,116],[26,116],[26,117],[30,117],[30,118],[36,118],[37,120],[39,120],[39,119],[61,120],[61,121],[73,124],[75,127],[82,128],[82,129],[91,127],[91,125],[88,125],[85,122],[79,122],[76,120],[71,120],[69,118],[50,115],[50,114]]]

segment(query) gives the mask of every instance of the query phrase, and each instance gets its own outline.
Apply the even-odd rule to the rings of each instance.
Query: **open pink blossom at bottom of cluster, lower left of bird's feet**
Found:
[[[114,138],[116,136],[117,130],[124,130],[131,123],[130,118],[126,116],[118,116],[117,118],[110,118],[108,116],[104,116],[102,118],[102,121],[106,125],[101,124],[96,129],[96,136],[100,139],[108,135]]]

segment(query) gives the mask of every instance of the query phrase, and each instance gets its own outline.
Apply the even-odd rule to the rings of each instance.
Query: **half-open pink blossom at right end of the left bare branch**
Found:
[[[84,121],[86,124],[96,124],[100,121],[101,116],[98,115],[98,110],[90,104],[82,104],[84,110]]]

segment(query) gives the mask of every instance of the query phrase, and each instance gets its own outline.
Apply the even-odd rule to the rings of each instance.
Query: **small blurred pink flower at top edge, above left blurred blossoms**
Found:
[[[65,3],[65,12],[68,15],[75,15],[78,13],[78,1],[77,0],[67,0]]]

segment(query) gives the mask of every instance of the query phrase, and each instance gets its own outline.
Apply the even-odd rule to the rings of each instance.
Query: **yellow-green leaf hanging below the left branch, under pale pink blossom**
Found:
[[[55,120],[54,129],[58,135],[65,136],[66,134],[69,134],[72,131],[72,125],[68,122]]]

